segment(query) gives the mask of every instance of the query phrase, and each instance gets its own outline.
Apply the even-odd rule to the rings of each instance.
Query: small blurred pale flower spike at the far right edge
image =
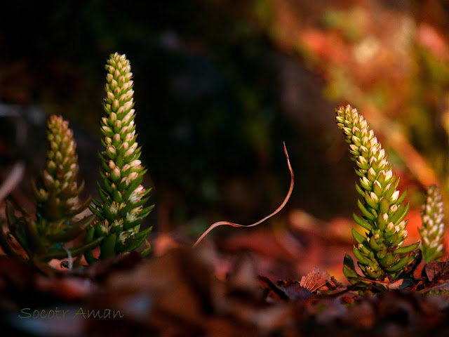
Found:
[[[429,263],[443,256],[444,211],[441,191],[435,185],[427,189],[426,201],[421,212],[422,227],[419,229],[422,239],[422,255]]]

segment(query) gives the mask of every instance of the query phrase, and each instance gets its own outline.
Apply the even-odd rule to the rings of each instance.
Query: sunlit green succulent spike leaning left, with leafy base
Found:
[[[387,155],[366,119],[350,105],[337,107],[335,111],[337,126],[346,136],[352,160],[356,162],[356,174],[360,178],[356,190],[360,194],[358,208],[361,216],[354,213],[354,220],[366,233],[352,230],[357,242],[353,247],[354,256],[368,279],[396,279],[413,262],[415,253],[411,252],[420,244],[402,246],[407,237],[408,220],[404,218],[409,205],[403,203],[406,192],[400,194],[396,190],[399,178],[392,173]],[[343,272],[349,282],[358,282],[354,277],[359,275],[349,255],[344,258]]]

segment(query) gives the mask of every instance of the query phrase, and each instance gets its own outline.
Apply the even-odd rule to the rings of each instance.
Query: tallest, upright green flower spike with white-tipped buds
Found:
[[[144,208],[149,199],[142,186],[146,170],[139,160],[140,147],[135,134],[133,109],[133,74],[126,55],[110,55],[106,65],[106,98],[103,103],[105,116],[101,119],[102,185],[99,185],[101,201],[93,200],[89,208],[100,220],[88,230],[86,242],[105,236],[100,258],[137,249],[145,242],[151,227],[139,231],[140,224],[153,206]],[[149,253],[147,249],[142,255]],[[88,263],[95,259],[91,252],[85,254]]]

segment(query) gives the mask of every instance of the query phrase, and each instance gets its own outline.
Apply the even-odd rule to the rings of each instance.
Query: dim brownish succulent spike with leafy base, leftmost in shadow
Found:
[[[36,218],[29,216],[23,209],[20,210],[21,216],[16,216],[11,203],[6,202],[8,230],[22,246],[27,260],[37,266],[43,266],[53,258],[81,256],[102,241],[100,237],[83,246],[72,249],[65,247],[65,243],[84,232],[95,216],[74,220],[74,216],[87,209],[90,203],[90,199],[79,199],[83,183],[78,185],[76,182],[79,171],[76,143],[68,122],[62,117],[52,115],[47,126],[49,148],[46,166],[36,183],[32,183]],[[20,252],[13,249],[3,228],[0,230],[0,245],[8,255],[24,259]]]

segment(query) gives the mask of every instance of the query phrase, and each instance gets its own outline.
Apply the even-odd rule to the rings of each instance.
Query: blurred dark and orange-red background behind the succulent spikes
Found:
[[[290,183],[285,141],[295,172],[285,209],[210,239],[271,258],[265,272],[278,277],[313,266],[341,275],[356,175],[337,105],[370,121],[409,189],[410,241],[424,188],[449,192],[447,1],[16,0],[2,13],[0,177],[25,163],[12,195],[29,209],[48,114],[69,119],[86,191],[98,195],[104,65],[115,51],[135,76],[156,254],[217,220],[249,225],[276,209]]]

